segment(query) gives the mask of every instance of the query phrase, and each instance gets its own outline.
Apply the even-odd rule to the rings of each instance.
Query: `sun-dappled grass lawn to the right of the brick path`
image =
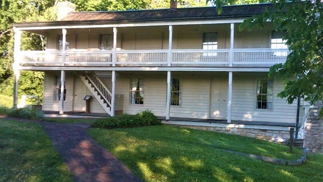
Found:
[[[301,150],[262,140],[169,125],[90,129],[90,135],[144,181],[323,181],[323,155],[282,166],[227,153],[298,159]]]

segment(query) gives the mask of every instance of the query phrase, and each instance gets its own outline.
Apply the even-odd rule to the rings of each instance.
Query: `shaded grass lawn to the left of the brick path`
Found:
[[[0,119],[0,161],[0,181],[72,181],[39,124]]]

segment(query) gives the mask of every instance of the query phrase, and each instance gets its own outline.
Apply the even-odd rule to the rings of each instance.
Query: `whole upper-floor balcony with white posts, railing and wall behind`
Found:
[[[22,67],[35,69],[37,67],[268,68],[277,63],[284,63],[289,54],[282,40],[282,34],[273,31],[271,24],[253,31],[238,31],[240,23],[202,23],[28,30],[47,37],[46,51],[19,50],[15,61]],[[63,42],[65,42],[64,50]]]

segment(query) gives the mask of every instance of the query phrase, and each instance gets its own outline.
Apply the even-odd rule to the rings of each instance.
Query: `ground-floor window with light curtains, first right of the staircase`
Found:
[[[130,104],[143,104],[144,80],[142,78],[132,78],[130,81]]]

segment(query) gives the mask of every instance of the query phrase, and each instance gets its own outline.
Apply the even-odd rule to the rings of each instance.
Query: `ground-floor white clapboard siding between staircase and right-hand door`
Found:
[[[116,94],[124,95],[124,113],[136,114],[142,110],[150,109],[157,116],[165,116],[166,76],[144,76],[141,78],[144,78],[144,104],[131,105],[129,104],[131,77],[118,76]],[[209,79],[180,79],[182,80],[182,106],[171,106],[171,117],[207,118]]]

